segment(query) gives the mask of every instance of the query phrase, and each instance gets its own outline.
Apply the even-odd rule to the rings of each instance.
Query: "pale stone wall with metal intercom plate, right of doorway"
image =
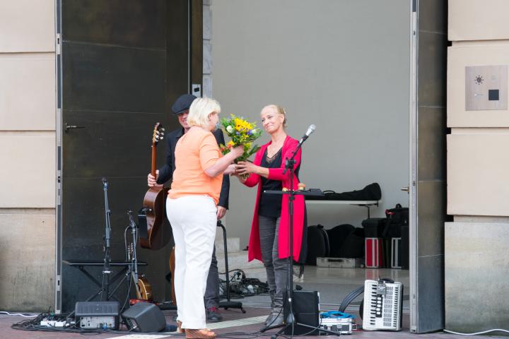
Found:
[[[445,328],[507,328],[509,26],[504,0],[449,0]],[[497,91],[497,97],[489,95]]]

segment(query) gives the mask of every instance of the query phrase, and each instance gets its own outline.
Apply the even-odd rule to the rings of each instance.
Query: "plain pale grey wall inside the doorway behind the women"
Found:
[[[408,206],[409,5],[390,1],[239,1],[212,5],[213,95],[223,114],[258,121],[283,105],[288,134],[303,146],[300,180],[351,191],[382,187],[382,217]],[[267,134],[260,143],[268,140]],[[228,235],[247,244],[256,192],[232,180]],[[249,208],[245,208],[248,206]],[[361,227],[365,208],[309,206],[308,222]],[[231,230],[231,231],[230,231]]]

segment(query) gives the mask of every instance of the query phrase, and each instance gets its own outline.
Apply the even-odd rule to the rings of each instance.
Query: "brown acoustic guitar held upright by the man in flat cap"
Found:
[[[163,140],[163,125],[157,123],[152,134],[151,174],[156,177],[157,145]],[[146,210],[146,234],[140,236],[140,245],[144,249],[161,249],[170,240],[170,223],[166,219],[167,187],[153,186],[145,194],[144,210]]]

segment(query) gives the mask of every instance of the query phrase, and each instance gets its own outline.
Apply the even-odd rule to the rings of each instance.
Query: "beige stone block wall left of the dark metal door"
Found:
[[[0,13],[0,309],[42,311],[54,307],[54,1]]]

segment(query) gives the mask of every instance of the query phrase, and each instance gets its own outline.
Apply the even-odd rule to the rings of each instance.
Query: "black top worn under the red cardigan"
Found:
[[[272,157],[267,157],[267,150],[265,150],[260,166],[265,168],[281,167],[281,148]],[[280,194],[263,193],[263,191],[267,190],[281,191],[281,189],[283,189],[281,181],[262,177],[262,195],[260,196],[258,215],[269,218],[279,218],[281,216],[281,202],[283,196]]]

